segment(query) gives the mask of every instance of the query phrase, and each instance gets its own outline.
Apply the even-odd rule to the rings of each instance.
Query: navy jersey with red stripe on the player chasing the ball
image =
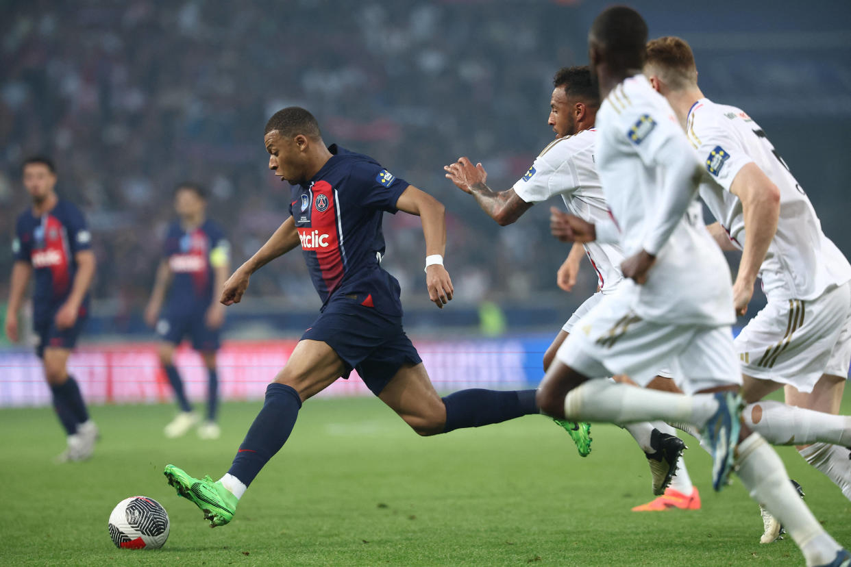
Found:
[[[340,296],[386,315],[402,315],[399,282],[381,269],[383,214],[396,213],[408,183],[369,156],[331,145],[333,154],[307,184],[294,185],[289,213],[313,286],[323,300]]]

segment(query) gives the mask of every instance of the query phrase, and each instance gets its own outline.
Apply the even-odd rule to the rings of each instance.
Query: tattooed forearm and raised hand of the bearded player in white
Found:
[[[491,190],[485,183],[488,180],[488,172],[481,163],[474,166],[467,157],[461,157],[457,162],[443,166],[443,170],[446,171],[446,179],[452,181],[460,190],[476,197],[479,207],[500,226],[515,222],[534,204],[523,201],[513,188],[500,192]]]

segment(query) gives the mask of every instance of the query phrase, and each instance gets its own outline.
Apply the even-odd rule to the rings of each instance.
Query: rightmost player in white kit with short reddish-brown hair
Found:
[[[851,362],[851,264],[821,231],[801,185],[757,122],[704,97],[688,43],[678,37],[648,43],[644,73],[705,158],[712,180],[700,196],[719,221],[710,232],[722,248],[742,251],[736,310],[745,314],[757,275],[768,297],[735,339],[742,395],[751,404],[745,423],[762,422],[769,442],[798,445],[851,499],[851,419],[836,415]],[[759,401],[783,387],[787,405]],[[768,543],[780,524],[767,512],[763,518],[762,543]]]

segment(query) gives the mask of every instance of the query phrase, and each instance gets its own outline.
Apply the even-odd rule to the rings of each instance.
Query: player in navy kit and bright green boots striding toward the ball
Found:
[[[323,307],[266,388],[266,403],[230,470],[214,482],[166,466],[168,483],[213,526],[231,521],[238,499],[287,440],[302,402],[352,369],[420,435],[539,413],[534,390],[468,389],[442,399],[403,331],[399,284],[380,264],[381,218],[397,211],[420,217],[429,298],[443,308],[453,286],[443,268],[446,225],[439,201],[371,157],[326,147],[316,119],[302,108],[272,116],[264,141],[269,168],[293,185],[291,216],[226,281],[222,303],[239,303],[254,271],[300,245]]]

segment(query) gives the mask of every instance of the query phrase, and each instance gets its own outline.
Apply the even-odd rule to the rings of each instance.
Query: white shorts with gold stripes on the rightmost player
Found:
[[[742,372],[812,392],[822,374],[848,376],[851,283],[819,298],[774,300],[735,339]]]

